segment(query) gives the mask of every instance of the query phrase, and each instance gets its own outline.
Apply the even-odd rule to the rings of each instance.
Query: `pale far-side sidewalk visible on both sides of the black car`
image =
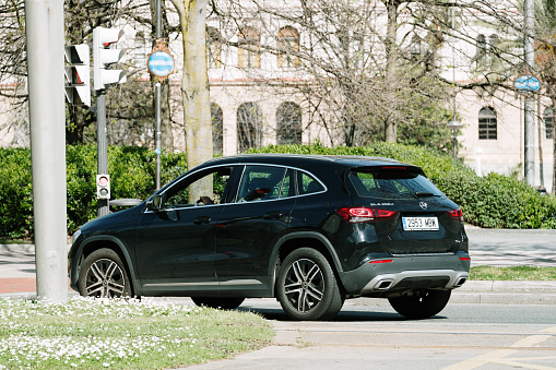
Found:
[[[0,244],[0,298],[34,297],[35,290],[34,246]],[[76,294],[70,288],[68,291]],[[453,290],[450,303],[556,305],[556,282],[471,281]],[[356,298],[345,305],[375,306],[388,301]]]

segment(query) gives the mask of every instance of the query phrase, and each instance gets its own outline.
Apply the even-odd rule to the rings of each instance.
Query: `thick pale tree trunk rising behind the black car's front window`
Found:
[[[191,169],[212,158],[212,120],[206,72],[208,0],[171,0],[178,10],[184,39],[181,97],[186,130],[187,166]],[[200,182],[200,181],[197,181]],[[190,189],[190,202],[212,193],[212,179]]]

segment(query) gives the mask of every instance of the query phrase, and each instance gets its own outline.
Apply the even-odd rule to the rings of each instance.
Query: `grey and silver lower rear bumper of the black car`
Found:
[[[348,295],[380,296],[418,289],[454,289],[469,279],[469,255],[403,255],[390,262],[369,261],[356,270],[340,273]]]

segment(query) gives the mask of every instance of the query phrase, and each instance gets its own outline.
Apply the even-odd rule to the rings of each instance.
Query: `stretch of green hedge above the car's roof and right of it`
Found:
[[[472,168],[446,153],[388,143],[335,148],[320,144],[271,145],[251,152],[394,158],[423,167],[427,177],[461,206],[469,224],[488,228],[556,228],[554,195],[541,195],[527,182],[513,177],[498,174],[478,177]]]

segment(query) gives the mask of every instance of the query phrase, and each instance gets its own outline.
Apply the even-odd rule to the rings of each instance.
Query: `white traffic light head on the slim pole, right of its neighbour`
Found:
[[[125,51],[110,49],[123,36],[123,29],[96,27],[93,29],[93,71],[94,88],[104,89],[114,84],[127,81],[122,70],[109,69],[111,64],[121,62]]]

